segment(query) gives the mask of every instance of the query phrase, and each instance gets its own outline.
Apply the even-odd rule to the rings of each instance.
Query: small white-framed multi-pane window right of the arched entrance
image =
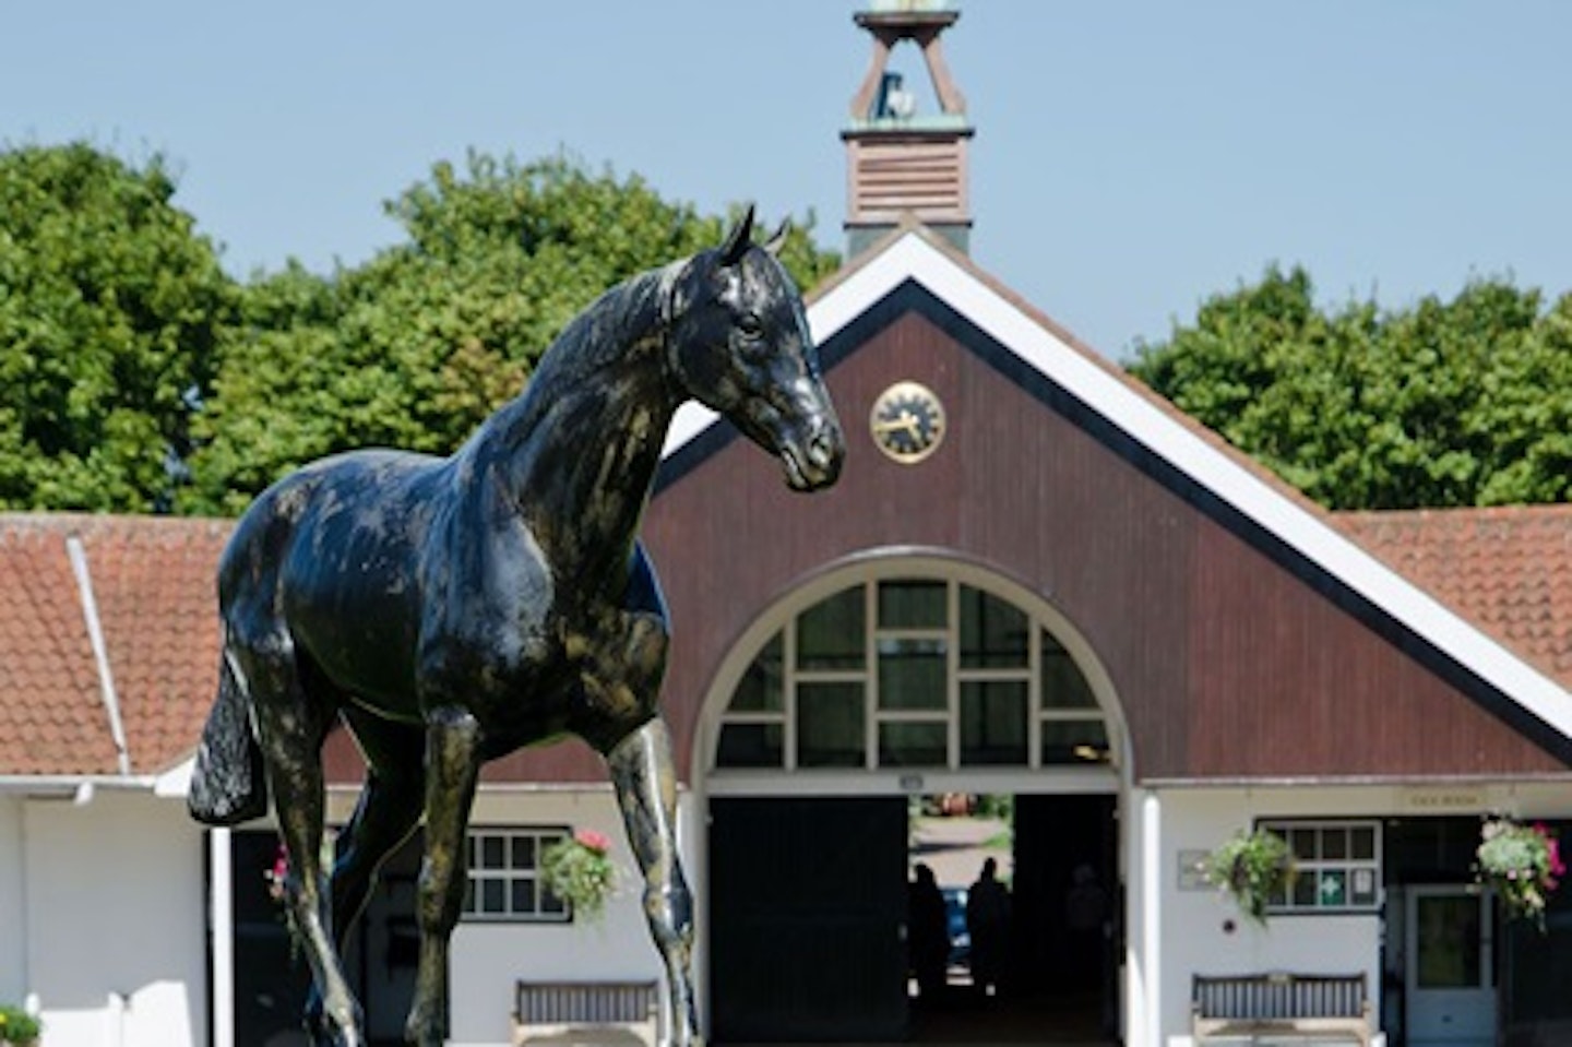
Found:
[[[1269,901],[1272,912],[1372,912],[1380,907],[1380,822],[1261,822],[1287,841],[1294,884]]]

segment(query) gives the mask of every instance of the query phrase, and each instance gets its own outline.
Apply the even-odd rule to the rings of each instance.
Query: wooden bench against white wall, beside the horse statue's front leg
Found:
[[[514,1047],[654,1047],[659,1027],[660,986],[654,981],[520,981],[514,987]]]

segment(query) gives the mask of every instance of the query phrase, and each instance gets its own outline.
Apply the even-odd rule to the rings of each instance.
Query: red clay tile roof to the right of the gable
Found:
[[[1572,505],[1336,512],[1331,520],[1572,689]]]

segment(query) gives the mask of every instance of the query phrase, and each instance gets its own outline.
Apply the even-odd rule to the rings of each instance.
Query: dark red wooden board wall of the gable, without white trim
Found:
[[[1140,780],[1566,769],[1486,707],[1498,696],[1454,687],[1405,652],[1412,637],[926,292],[909,285],[825,349],[850,445],[835,489],[792,494],[736,437],[674,459],[646,517],[674,623],[665,707],[684,780],[739,634],[827,564],[887,547],[982,563],[1063,612],[1113,679]],[[910,467],[868,437],[872,399],[899,379],[929,385],[949,417],[940,450]],[[577,744],[489,773],[583,777],[602,772]]]

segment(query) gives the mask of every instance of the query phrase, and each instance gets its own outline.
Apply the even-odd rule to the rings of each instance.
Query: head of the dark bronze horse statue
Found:
[[[781,459],[792,490],[828,487],[846,437],[819,373],[802,296],[780,264],[788,226],[751,241],[753,208],[696,255],[671,292],[671,369],[682,388]]]

